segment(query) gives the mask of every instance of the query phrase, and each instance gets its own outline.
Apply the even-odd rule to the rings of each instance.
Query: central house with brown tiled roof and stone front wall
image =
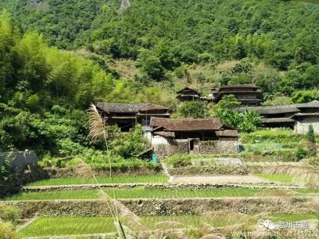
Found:
[[[148,132],[159,157],[176,153],[237,153],[237,129],[219,119],[165,119],[152,117]]]

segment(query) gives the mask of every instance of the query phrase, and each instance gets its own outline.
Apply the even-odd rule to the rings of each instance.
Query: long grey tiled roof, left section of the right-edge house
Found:
[[[285,105],[285,106],[257,106],[257,107],[240,107],[239,112],[244,112],[246,110],[254,111],[259,114],[282,114],[291,112],[301,112],[296,105]]]

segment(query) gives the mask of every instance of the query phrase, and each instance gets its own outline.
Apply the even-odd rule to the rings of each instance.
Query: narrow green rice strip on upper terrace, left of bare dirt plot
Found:
[[[97,177],[99,183],[111,183],[110,177]],[[138,175],[138,176],[115,176],[114,183],[166,183],[167,176],[164,175]],[[27,186],[52,186],[52,185],[72,185],[72,184],[92,184],[92,178],[51,178],[29,183]]]

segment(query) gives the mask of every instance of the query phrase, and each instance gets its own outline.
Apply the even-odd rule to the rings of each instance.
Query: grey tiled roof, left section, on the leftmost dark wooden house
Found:
[[[115,113],[136,113],[144,106],[151,105],[151,103],[97,103],[96,106],[106,112]]]

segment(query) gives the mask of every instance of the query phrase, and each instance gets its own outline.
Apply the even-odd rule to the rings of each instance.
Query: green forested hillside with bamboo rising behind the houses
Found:
[[[133,0],[120,7],[121,0],[0,2],[0,151],[83,151],[91,146],[91,102],[147,101],[175,111],[175,91],[186,85],[208,94],[253,83],[264,105],[319,99],[319,4]]]

